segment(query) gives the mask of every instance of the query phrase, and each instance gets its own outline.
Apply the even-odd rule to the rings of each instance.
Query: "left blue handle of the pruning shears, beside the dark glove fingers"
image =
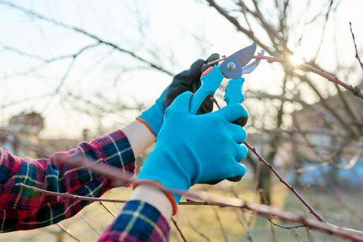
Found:
[[[221,71],[219,71],[218,66],[210,67],[202,74],[202,85],[192,97],[189,108],[190,113],[196,114],[196,112],[198,112],[198,109],[205,100],[205,97],[216,92],[216,89],[218,89],[221,84],[223,77],[224,76]]]

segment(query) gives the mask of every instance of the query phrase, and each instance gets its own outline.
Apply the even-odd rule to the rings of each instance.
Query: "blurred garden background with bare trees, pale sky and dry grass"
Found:
[[[363,230],[363,100],[299,66],[362,88],[349,25],[363,55],[362,8],[360,0],[0,0],[0,146],[41,158],[121,129],[196,59],[257,41],[258,51],[291,62],[263,61],[245,76],[248,142],[327,221]],[[223,93],[216,97],[223,105]],[[197,189],[315,219],[252,153],[244,162],[248,174],[240,183]],[[113,189],[104,197],[130,193]],[[107,205],[116,213],[122,207]],[[95,241],[112,219],[93,203],[62,224],[82,241]],[[181,207],[176,221],[187,241],[334,239],[227,208]],[[183,241],[173,225],[171,231],[171,241]],[[73,241],[55,225],[0,234],[1,241],[44,239]]]

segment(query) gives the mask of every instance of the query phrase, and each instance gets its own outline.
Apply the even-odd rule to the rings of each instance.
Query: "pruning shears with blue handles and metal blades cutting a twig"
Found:
[[[256,48],[257,44],[254,42],[252,45],[233,53],[222,63],[208,68],[201,76],[201,87],[192,97],[190,104],[191,113],[196,114],[205,97],[213,95],[218,88],[221,88],[221,82],[224,77],[229,79],[227,86],[223,87],[225,89],[223,99],[227,105],[243,102],[245,100],[243,95],[243,82],[245,79],[242,75],[254,71],[261,62],[261,59],[256,59],[251,64],[248,64],[254,56]],[[264,50],[261,50],[259,55],[263,54]]]

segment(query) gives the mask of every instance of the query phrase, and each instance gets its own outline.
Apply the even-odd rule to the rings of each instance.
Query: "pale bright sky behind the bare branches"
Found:
[[[200,1],[12,2],[68,26],[82,28],[101,39],[132,50],[145,59],[160,62],[171,73],[183,71],[200,57],[205,58],[211,53],[230,55],[252,43],[245,35],[236,32],[234,26],[216,10]],[[272,4],[272,1],[264,3]],[[301,12],[307,5],[309,10]],[[263,5],[263,8],[266,17],[275,21],[276,13],[270,11],[273,8],[268,5]],[[338,62],[343,66],[356,65],[348,22],[352,21],[358,48],[363,50],[361,9],[363,1],[343,0],[337,12],[331,15],[318,57],[319,64],[326,70],[336,73]],[[289,46],[299,57],[309,59],[316,52],[324,24],[324,19],[317,19],[306,26],[303,24],[304,19],[325,10],[326,1],[292,0],[292,17],[288,21],[294,23],[295,27],[291,30]],[[138,112],[120,112],[115,103],[129,106],[142,103],[149,106],[171,82],[170,75],[145,68],[145,64],[129,55],[100,45],[84,50],[71,66],[57,95],[47,95],[53,93],[62,82],[72,58],[46,65],[42,64],[44,60],[77,53],[80,48],[95,44],[95,41],[3,4],[0,4],[0,16],[2,126],[6,126],[12,115],[37,111],[46,120],[46,128],[41,133],[45,138],[80,138],[85,128],[93,134],[122,128]],[[253,27],[259,32],[257,26]],[[301,32],[304,38],[301,46],[296,46]],[[260,36],[261,39],[266,38],[262,32]],[[6,46],[32,57],[19,55],[6,49]],[[262,62],[254,73],[245,78],[248,80],[245,84],[247,91],[270,94],[279,94],[281,91],[279,64]],[[360,78],[361,73],[353,73],[349,83],[356,84]],[[324,89],[326,82],[319,78],[317,81],[322,83]],[[89,109],[89,104],[84,100],[99,104],[100,108],[109,110],[109,114],[104,115],[97,109],[90,109],[89,113],[80,111]],[[313,103],[316,97],[312,96],[308,101]]]

